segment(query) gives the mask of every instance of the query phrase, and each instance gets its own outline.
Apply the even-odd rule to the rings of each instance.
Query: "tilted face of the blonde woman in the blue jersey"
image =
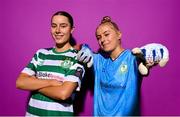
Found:
[[[96,38],[103,51],[112,52],[120,46],[121,33],[110,24],[102,24],[96,30]]]

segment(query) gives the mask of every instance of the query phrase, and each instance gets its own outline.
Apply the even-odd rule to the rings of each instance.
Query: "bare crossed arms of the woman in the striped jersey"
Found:
[[[77,82],[60,82],[55,79],[38,79],[21,73],[16,81],[16,87],[23,90],[38,91],[57,100],[66,100],[77,87]]]

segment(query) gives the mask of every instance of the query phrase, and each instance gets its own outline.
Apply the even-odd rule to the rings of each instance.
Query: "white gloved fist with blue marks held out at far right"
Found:
[[[143,55],[144,60],[141,59],[139,64],[139,71],[142,75],[148,74],[149,67],[153,65],[159,64],[160,67],[164,67],[169,60],[168,49],[162,44],[147,44],[141,48],[134,48],[132,52],[136,55]]]

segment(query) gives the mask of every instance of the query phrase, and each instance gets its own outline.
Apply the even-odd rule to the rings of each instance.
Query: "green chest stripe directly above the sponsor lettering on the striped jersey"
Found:
[[[75,70],[70,70],[68,68],[63,68],[61,66],[49,66],[49,65],[44,65],[44,66],[39,66],[37,67],[37,71],[48,71],[48,72],[56,72],[56,73],[61,73],[67,75],[74,75]]]

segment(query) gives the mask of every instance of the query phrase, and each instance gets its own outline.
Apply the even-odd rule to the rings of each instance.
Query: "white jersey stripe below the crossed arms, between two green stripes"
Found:
[[[44,110],[73,112],[73,106],[65,103],[45,102],[31,98],[29,105]]]

